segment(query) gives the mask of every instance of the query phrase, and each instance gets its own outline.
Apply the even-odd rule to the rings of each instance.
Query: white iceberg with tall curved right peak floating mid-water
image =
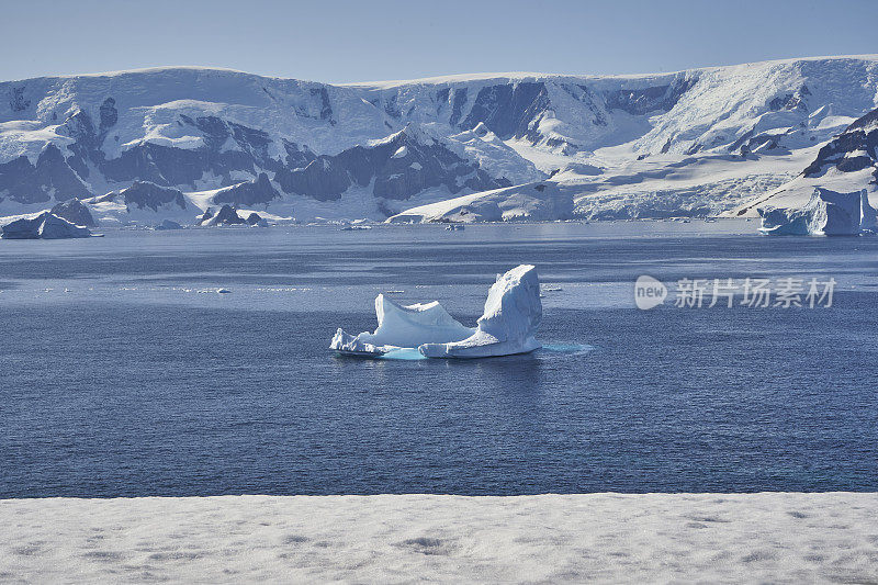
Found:
[[[438,301],[403,306],[379,294],[375,314],[374,333],[353,336],[338,329],[329,348],[352,356],[380,357],[417,349],[427,358],[487,358],[540,347],[536,339],[542,322],[540,282],[530,265],[497,277],[474,328],[461,325]]]

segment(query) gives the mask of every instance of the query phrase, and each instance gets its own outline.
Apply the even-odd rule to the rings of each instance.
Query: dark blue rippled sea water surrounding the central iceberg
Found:
[[[0,241],[0,497],[878,491],[878,238],[754,230]],[[545,285],[545,349],[327,349],[337,327],[374,328],[380,292],[473,325],[495,274],[524,262]],[[665,304],[634,306],[641,274],[668,285]],[[674,306],[680,279],[746,277],[837,285],[831,307]]]

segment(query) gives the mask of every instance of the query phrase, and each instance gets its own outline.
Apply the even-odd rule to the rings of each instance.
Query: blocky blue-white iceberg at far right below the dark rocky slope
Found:
[[[815,188],[802,207],[761,207],[759,232],[773,236],[856,236],[876,230],[866,190],[838,193]]]

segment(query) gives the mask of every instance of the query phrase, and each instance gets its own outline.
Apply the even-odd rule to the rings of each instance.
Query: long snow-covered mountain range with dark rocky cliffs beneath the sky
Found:
[[[714,214],[811,168],[876,106],[878,56],[345,86],[204,68],[44,77],[0,83],[0,215],[80,198],[102,223],[223,204],[494,217],[479,193],[506,218]],[[150,183],[182,204],[138,205]]]

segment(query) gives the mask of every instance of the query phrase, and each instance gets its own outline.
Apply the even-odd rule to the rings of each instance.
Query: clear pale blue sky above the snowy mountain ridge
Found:
[[[318,81],[878,53],[876,0],[0,0],[0,79],[162,65]]]

